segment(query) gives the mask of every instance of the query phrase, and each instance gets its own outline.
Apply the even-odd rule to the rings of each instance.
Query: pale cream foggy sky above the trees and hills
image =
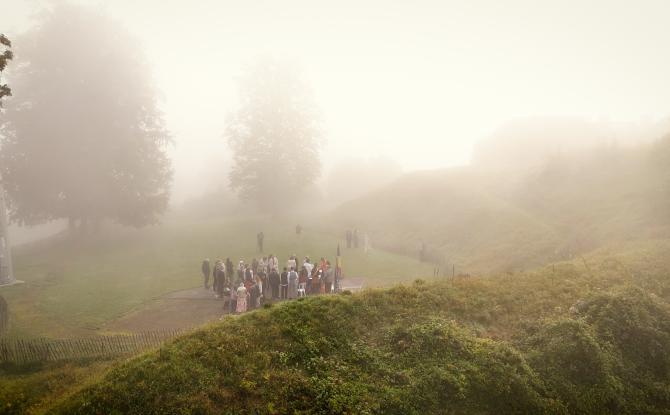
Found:
[[[235,77],[259,55],[304,69],[326,165],[386,156],[406,170],[464,164],[508,120],[670,115],[668,1],[80,0],[144,44],[175,147],[178,197],[225,160]],[[0,32],[38,0],[0,0]],[[63,45],[67,47],[67,45]]]

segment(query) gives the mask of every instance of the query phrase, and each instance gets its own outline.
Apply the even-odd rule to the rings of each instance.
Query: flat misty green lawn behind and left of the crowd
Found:
[[[85,240],[56,238],[16,250],[16,277],[24,284],[2,289],[9,303],[10,335],[69,337],[95,332],[105,323],[166,293],[202,284],[207,257],[251,261],[265,251],[283,261],[289,254],[334,259],[335,237],[263,220],[170,221],[133,230],[110,228]],[[432,274],[410,258],[343,249],[345,277],[386,286]]]

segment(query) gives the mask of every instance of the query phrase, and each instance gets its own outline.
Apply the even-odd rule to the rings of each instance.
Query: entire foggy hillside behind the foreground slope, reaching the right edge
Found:
[[[428,260],[457,272],[520,270],[670,234],[669,154],[665,138],[554,153],[522,170],[475,163],[412,173],[328,221],[410,255],[423,242]]]

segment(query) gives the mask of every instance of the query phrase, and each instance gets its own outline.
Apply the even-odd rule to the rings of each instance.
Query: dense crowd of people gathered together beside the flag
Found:
[[[325,258],[312,263],[309,257],[299,261],[296,255],[291,255],[281,270],[275,255],[254,258],[250,264],[240,260],[237,266],[230,258],[216,260],[213,267],[205,259],[201,270],[205,289],[210,289],[211,276],[211,289],[217,298],[229,301],[231,313],[243,313],[271,301],[336,292],[340,277],[339,268]]]

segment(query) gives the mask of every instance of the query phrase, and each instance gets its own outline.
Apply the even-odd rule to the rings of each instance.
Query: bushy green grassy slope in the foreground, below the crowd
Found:
[[[668,413],[670,241],[308,298],[117,365],[54,413]]]

